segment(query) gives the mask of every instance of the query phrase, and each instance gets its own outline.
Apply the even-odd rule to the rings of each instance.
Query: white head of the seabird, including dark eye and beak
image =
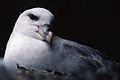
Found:
[[[50,42],[52,32],[49,31],[54,15],[44,8],[32,8],[24,11],[18,18],[13,32]]]

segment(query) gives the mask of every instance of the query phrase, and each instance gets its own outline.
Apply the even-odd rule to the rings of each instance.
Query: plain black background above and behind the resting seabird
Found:
[[[0,56],[19,14],[32,7],[47,8],[55,15],[52,30],[56,35],[120,61],[120,7],[112,0],[1,0]]]

